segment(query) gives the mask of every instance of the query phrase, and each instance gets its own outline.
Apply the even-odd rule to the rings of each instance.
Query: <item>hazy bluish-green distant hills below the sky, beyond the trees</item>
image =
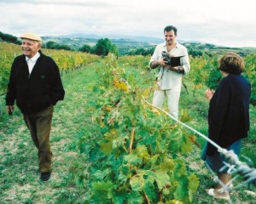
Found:
[[[100,36],[95,34],[73,34],[67,36],[43,36],[44,42],[54,41],[60,44],[66,44],[70,48],[78,49],[84,44],[94,46],[96,42],[101,38],[108,38],[119,48],[119,54],[128,54],[132,50],[137,48],[152,48],[156,44],[165,42],[165,39],[157,37],[142,37],[142,36],[119,36],[119,35],[107,35]],[[230,48],[219,45],[214,45],[207,42],[199,41],[183,41],[178,40],[178,42],[185,45],[190,53],[221,53],[225,50],[234,51],[241,56],[246,56],[247,54],[256,51],[256,48]]]

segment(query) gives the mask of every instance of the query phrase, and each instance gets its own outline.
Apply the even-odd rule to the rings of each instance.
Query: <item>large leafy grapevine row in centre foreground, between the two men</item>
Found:
[[[91,161],[88,201],[191,202],[198,183],[189,184],[195,175],[179,159],[191,151],[189,134],[142,101],[148,90],[117,66],[113,54],[96,73],[97,101],[90,104],[102,134],[91,139],[92,148],[85,152]]]

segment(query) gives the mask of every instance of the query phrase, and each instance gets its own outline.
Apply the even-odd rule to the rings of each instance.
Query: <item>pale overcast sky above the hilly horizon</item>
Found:
[[[119,34],[256,48],[253,0],[0,0],[0,31],[19,37]]]

